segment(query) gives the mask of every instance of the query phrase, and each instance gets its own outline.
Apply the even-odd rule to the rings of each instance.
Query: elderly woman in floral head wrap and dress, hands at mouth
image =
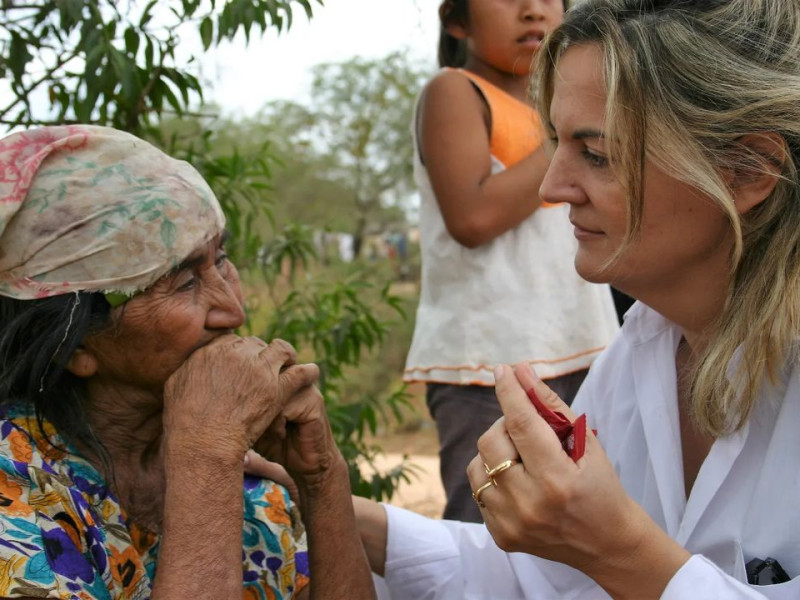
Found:
[[[232,333],[223,225],[194,169],[131,135],[0,140],[0,597],[372,594],[318,370]],[[254,445],[307,530],[244,475]]]

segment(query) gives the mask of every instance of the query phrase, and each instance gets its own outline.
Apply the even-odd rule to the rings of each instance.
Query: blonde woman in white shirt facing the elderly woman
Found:
[[[373,569],[395,598],[798,598],[800,4],[589,0],[538,63],[542,197],[639,303],[574,412],[496,370],[488,531],[359,502]],[[528,389],[586,413],[582,458]]]

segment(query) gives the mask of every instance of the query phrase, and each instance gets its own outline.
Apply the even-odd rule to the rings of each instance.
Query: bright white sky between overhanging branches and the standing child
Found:
[[[206,100],[220,105],[228,116],[253,115],[269,100],[307,98],[315,64],[355,56],[379,58],[395,50],[407,51],[433,69],[439,3],[325,0],[323,6],[314,4],[310,21],[297,5],[290,30],[253,36],[247,46],[242,36],[203,56],[201,74],[212,86]],[[186,51],[198,52],[188,42]]]

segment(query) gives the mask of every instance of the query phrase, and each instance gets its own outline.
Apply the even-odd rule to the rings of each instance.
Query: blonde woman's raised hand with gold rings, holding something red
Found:
[[[575,567],[615,597],[658,597],[688,552],[625,493],[591,430],[577,463],[564,452],[525,389],[570,420],[575,415],[529,366],[499,367],[495,384],[504,416],[479,439],[467,474],[477,490],[488,481],[484,465],[520,461],[480,495],[497,545]]]

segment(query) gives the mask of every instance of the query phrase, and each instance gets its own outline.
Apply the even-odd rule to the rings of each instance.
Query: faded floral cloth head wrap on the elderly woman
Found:
[[[188,163],[88,125],[0,139],[0,295],[144,290],[225,225]]]

